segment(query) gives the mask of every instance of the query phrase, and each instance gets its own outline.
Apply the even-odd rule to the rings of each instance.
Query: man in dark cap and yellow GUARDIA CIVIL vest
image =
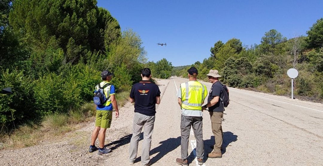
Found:
[[[176,163],[188,165],[188,140],[191,126],[193,127],[196,139],[196,156],[199,165],[203,165],[204,145],[203,145],[203,112],[202,104],[207,96],[206,86],[197,81],[197,69],[191,67],[187,70],[188,82],[181,84],[178,90],[178,104],[182,109],[181,116],[181,156]]]

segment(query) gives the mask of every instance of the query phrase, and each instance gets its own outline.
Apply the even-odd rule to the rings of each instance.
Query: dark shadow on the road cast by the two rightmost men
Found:
[[[234,135],[230,131],[226,131],[223,133],[223,143],[222,143],[222,150],[221,150],[222,154],[225,153],[226,147],[230,146],[229,144],[231,142],[236,141],[237,138],[238,138],[238,136]],[[214,144],[215,144],[214,136],[211,136],[211,138],[209,140],[204,140],[204,161],[206,161],[208,159],[207,154],[211,153],[213,150],[213,149],[211,149],[210,146],[214,145]],[[193,151],[191,152],[190,157],[192,157],[194,159]]]

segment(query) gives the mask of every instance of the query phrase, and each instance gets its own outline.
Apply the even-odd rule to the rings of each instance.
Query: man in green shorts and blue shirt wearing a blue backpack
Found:
[[[92,133],[91,137],[91,145],[89,148],[89,152],[94,152],[98,150],[95,146],[95,140],[99,136],[99,151],[98,154],[106,154],[111,152],[110,149],[104,148],[104,140],[105,140],[105,132],[107,128],[110,128],[111,121],[112,121],[112,110],[113,108],[116,110],[116,118],[119,117],[119,109],[118,104],[115,98],[115,88],[114,86],[109,83],[112,79],[114,74],[111,73],[109,70],[104,70],[101,73],[102,82],[100,83],[100,87],[106,86],[103,91],[104,95],[107,98],[107,101],[102,104],[96,106],[96,119],[95,119],[95,128]],[[95,92],[99,90],[99,85],[95,87]]]

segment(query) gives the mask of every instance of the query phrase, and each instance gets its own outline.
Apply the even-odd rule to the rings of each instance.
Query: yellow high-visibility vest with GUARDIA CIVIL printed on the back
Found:
[[[206,86],[198,81],[188,81],[181,84],[182,108],[202,110],[202,103],[207,96]]]

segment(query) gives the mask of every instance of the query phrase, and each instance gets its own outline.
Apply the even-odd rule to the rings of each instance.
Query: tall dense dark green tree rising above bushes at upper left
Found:
[[[16,0],[9,21],[33,50],[57,43],[66,62],[76,63],[88,50],[106,51],[121,34],[116,20],[96,4],[96,0]]]

